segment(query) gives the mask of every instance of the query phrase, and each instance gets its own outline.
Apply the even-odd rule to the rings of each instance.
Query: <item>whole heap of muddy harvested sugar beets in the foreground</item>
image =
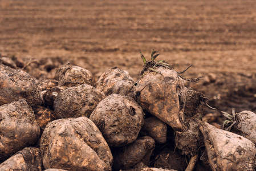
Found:
[[[202,121],[207,98],[157,51],[135,82],[119,68],[94,83],[67,63],[36,80],[0,63],[0,170],[255,170],[256,115]],[[210,90],[209,90],[210,91]]]

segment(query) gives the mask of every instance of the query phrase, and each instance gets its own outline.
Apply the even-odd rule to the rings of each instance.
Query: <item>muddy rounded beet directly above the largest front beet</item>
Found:
[[[54,101],[54,111],[60,118],[90,117],[97,104],[105,98],[95,87],[83,84],[78,87],[66,88]]]

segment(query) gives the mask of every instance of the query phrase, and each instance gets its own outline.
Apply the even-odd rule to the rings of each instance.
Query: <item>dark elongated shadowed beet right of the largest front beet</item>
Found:
[[[140,137],[132,144],[118,150],[114,157],[113,168],[131,169],[140,161],[148,165],[153,149],[155,149],[155,141],[151,137]]]

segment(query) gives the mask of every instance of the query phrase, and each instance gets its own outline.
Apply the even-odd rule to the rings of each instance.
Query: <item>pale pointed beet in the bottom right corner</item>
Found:
[[[254,170],[256,148],[253,142],[205,122],[200,131],[212,170]]]

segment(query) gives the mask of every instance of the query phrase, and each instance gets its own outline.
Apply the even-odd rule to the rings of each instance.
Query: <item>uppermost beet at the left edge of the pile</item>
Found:
[[[26,99],[30,105],[42,103],[32,76],[0,63],[0,105],[19,99]]]

